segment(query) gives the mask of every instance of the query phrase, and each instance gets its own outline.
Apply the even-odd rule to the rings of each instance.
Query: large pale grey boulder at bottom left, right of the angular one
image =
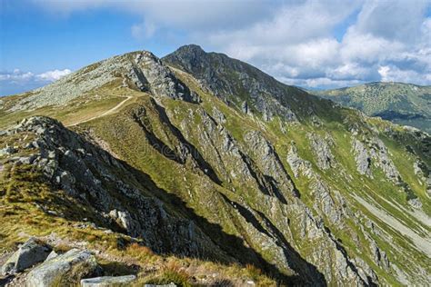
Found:
[[[27,275],[26,286],[72,286],[99,270],[93,254],[72,249],[35,267]]]

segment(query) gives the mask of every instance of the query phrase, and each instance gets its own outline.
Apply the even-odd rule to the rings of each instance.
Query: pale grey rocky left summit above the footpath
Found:
[[[118,55],[68,74],[53,84],[32,91],[11,107],[11,111],[64,105],[106,84],[122,83],[155,96],[199,103],[197,94],[178,80],[154,54],[148,51]]]

